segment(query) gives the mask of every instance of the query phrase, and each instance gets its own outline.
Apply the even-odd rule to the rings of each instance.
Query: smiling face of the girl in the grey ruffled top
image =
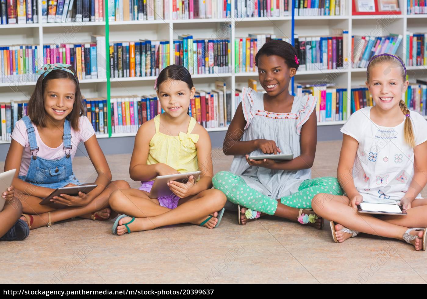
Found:
[[[288,67],[280,56],[262,55],[258,60],[258,79],[270,97],[286,92],[295,73],[296,69]]]

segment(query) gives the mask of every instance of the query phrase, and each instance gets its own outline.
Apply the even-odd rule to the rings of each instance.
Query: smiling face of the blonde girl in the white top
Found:
[[[409,81],[402,78],[402,67],[398,61],[377,63],[369,68],[366,86],[375,105],[382,110],[400,109],[399,102],[408,84]]]

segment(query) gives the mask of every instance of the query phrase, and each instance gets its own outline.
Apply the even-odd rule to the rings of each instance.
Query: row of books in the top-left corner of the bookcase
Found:
[[[36,0],[0,1],[1,25],[38,23]]]

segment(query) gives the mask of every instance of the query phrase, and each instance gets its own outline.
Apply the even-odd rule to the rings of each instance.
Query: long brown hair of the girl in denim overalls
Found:
[[[76,74],[76,70],[69,66],[67,69]],[[67,115],[66,119],[70,121],[71,127],[75,131],[79,131],[79,117],[84,114],[84,108],[82,104],[82,94],[80,92],[79,79],[73,74],[63,71],[61,69],[54,69],[46,77],[43,78],[43,74],[37,80],[35,84],[34,92],[28,102],[28,116],[31,121],[41,127],[46,126],[46,112],[44,111],[44,89],[47,86],[47,82],[53,79],[70,79],[76,84],[76,94],[74,95],[74,105],[71,113]]]

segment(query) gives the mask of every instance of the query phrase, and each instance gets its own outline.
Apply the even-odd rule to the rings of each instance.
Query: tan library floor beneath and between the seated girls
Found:
[[[336,174],[340,141],[319,142],[313,178]],[[114,179],[131,181],[130,155],[109,155]],[[231,157],[213,152],[215,172]],[[3,169],[4,162],[0,162]],[[94,181],[76,157],[80,181]],[[132,182],[131,187],[138,187]],[[427,188],[423,190],[427,196]],[[2,283],[425,283],[427,253],[405,242],[360,234],[334,243],[323,230],[261,218],[246,226],[225,212],[213,230],[196,225],[115,236],[111,221],[77,219],[1,242]]]

